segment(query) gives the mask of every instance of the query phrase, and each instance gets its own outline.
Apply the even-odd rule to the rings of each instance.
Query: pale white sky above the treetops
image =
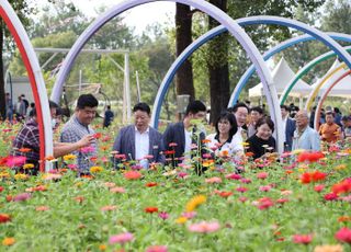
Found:
[[[76,7],[78,7],[83,13],[89,16],[97,16],[95,9],[101,5],[113,7],[121,3],[123,0],[73,0]],[[45,4],[47,0],[35,0],[36,4]],[[65,0],[70,2],[70,0]],[[141,34],[146,26],[152,23],[174,23],[176,3],[174,2],[151,2],[143,5],[135,7],[125,13],[121,14],[125,16],[124,22],[127,25],[135,26],[135,32]]]

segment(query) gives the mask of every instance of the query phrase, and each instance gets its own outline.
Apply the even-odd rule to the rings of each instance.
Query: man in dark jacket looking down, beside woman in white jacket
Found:
[[[179,158],[185,153],[190,153],[192,144],[201,147],[201,152],[205,151],[203,141],[205,134],[197,129],[193,124],[193,119],[204,121],[206,117],[206,106],[201,101],[191,102],[186,106],[185,117],[182,122],[171,124],[163,133],[163,144],[168,153],[171,153],[171,158],[176,158],[173,167],[179,162]],[[196,136],[200,136],[196,139]],[[167,152],[166,152],[167,153]]]

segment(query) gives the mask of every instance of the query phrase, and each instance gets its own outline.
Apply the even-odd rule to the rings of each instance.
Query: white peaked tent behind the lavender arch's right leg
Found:
[[[290,68],[288,64],[284,59],[284,57],[281,58],[279,64],[275,66],[275,68],[272,71],[273,82],[276,89],[278,94],[282,94],[285,87],[291,83],[291,81],[295,78],[295,72]],[[310,93],[312,87],[307,84],[303,80],[298,80],[292,91],[290,92],[290,95],[292,96],[306,96]],[[259,83],[252,89],[249,89],[249,96],[262,96],[263,95],[263,84]]]

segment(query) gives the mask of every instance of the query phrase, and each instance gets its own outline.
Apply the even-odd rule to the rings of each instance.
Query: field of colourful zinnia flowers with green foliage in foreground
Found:
[[[0,151],[15,131],[1,125]],[[351,251],[348,145],[296,162],[196,160],[207,169],[196,175],[123,160],[115,170],[113,137],[99,131],[91,175],[69,169],[73,156],[38,176],[1,159],[0,251]]]

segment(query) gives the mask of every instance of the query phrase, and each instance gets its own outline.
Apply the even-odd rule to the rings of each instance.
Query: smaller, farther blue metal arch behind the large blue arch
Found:
[[[326,33],[326,34],[337,41],[351,42],[351,35],[348,35],[348,34],[342,34],[342,33]],[[308,34],[290,38],[285,42],[278,44],[276,46],[272,47],[271,49],[267,50],[263,54],[263,59],[269,60],[272,56],[284,50],[285,48],[288,48],[297,43],[303,43],[303,42],[313,41],[313,39],[316,39],[316,38],[312,37]],[[250,68],[248,68],[248,70],[241,76],[239,82],[237,83],[236,88],[234,89],[231,96],[230,96],[230,100],[229,100],[229,103],[228,103],[228,107],[233,106],[239,100],[239,95],[240,95],[244,87],[246,85],[246,83],[248,82],[248,80],[250,79],[250,77],[253,73],[254,73],[254,66],[251,65]]]

